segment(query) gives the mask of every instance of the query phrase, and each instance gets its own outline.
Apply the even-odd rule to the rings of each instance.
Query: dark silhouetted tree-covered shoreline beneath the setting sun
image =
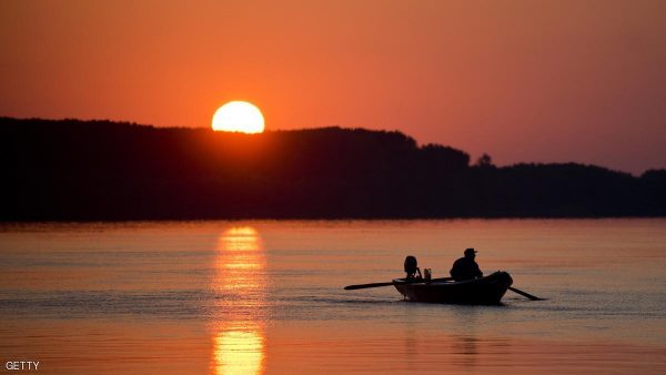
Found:
[[[0,118],[2,221],[666,215],[666,170],[521,163],[400,132]]]

